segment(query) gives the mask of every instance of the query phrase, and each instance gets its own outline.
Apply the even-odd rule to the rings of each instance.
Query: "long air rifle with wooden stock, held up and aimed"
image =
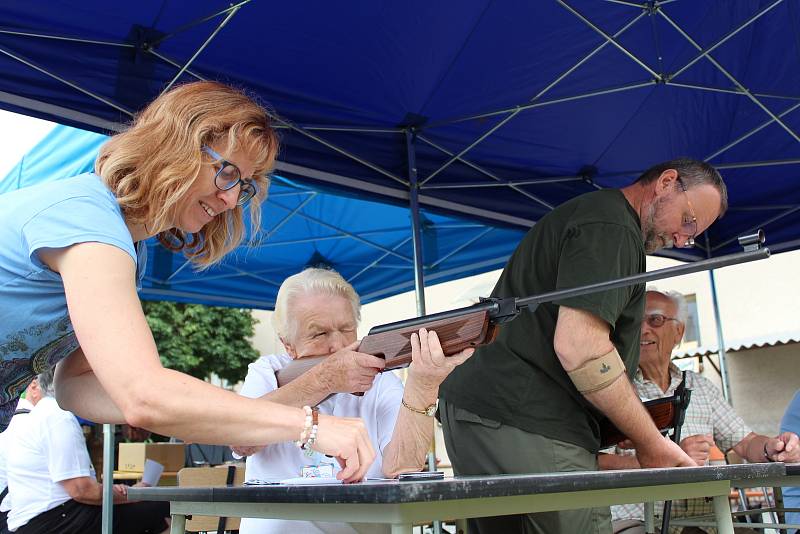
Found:
[[[376,326],[361,340],[358,350],[384,358],[385,371],[406,367],[411,363],[411,334],[424,327],[436,331],[444,354],[450,356],[468,347],[491,343],[497,337],[499,325],[511,321],[522,310],[534,311],[546,302],[765,259],[769,257],[769,249],[762,247],[763,243],[764,232],[759,230],[739,238],[743,252],[530,297],[482,298],[466,308]],[[314,356],[292,361],[278,371],[278,386],[288,384],[325,358],[327,356]]]

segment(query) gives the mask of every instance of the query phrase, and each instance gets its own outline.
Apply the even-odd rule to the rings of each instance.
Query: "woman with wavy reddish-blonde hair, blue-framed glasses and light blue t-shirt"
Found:
[[[95,173],[0,196],[0,429],[30,381],[58,364],[66,410],[186,441],[296,440],[363,478],[363,422],[240,397],[161,365],[137,296],[147,238],[198,268],[259,227],[278,152],[269,114],[216,82],[178,86],[101,149]]]

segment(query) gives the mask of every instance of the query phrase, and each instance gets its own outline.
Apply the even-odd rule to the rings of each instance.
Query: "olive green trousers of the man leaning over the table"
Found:
[[[596,471],[586,449],[480,417],[439,402],[447,454],[456,475]],[[608,508],[539,512],[469,520],[470,534],[611,534]]]

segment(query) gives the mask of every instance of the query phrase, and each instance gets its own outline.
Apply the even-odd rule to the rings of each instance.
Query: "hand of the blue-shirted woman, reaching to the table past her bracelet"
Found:
[[[375,460],[364,421],[352,417],[320,415],[314,450],[336,458],[342,466],[336,478],[344,482],[363,480]]]

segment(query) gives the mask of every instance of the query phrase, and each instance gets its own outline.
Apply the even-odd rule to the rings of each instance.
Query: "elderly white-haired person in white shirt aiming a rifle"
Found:
[[[393,373],[379,373],[384,360],[357,352],[356,330],[361,303],[353,287],[332,270],[309,268],[287,278],[278,291],[273,326],[286,354],[262,356],[250,364],[241,395],[289,406],[318,406],[320,413],[360,417],[377,453],[368,478],[394,478],[418,471],[433,439],[433,407],[439,384],[473,349],[445,357],[435,332],[420,329],[411,337],[412,363],[405,388]],[[278,387],[276,373],[292,360],[328,357],[319,365]],[[363,396],[352,395],[364,392]],[[313,470],[334,476],[335,462],[322,454],[304,453],[291,443],[263,449],[235,447],[250,455],[247,479],[285,479]],[[382,532],[386,527],[243,519],[242,534],[265,532]]]

